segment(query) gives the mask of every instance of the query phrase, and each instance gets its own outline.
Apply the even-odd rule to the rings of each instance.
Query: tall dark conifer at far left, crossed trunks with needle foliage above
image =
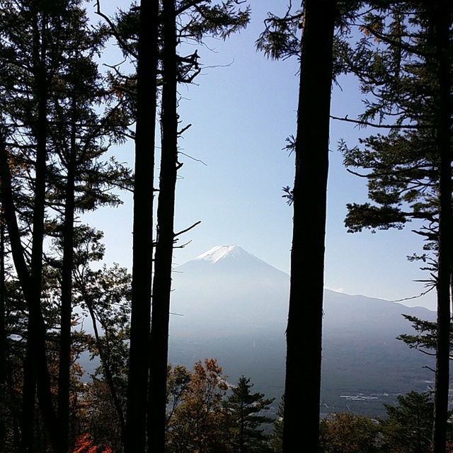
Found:
[[[1,131],[1,196],[12,256],[23,294],[28,304],[27,352],[23,380],[22,440],[23,449],[33,452],[33,418],[35,394],[44,416],[47,430],[51,433],[55,450],[61,449],[61,436],[57,415],[52,405],[50,376],[47,369],[45,345],[45,321],[42,316],[42,248],[45,234],[45,189],[47,174],[48,109],[52,78],[62,63],[61,42],[51,37],[60,36],[67,25],[74,2],[48,4],[47,2],[23,1],[21,4],[7,1],[1,6],[2,64],[1,84],[7,102],[2,105],[2,120],[9,120],[12,127]],[[33,225],[31,236],[30,265],[16,217],[13,198],[11,169],[5,137],[18,134],[25,145],[33,149]],[[25,137],[25,139],[24,139]]]

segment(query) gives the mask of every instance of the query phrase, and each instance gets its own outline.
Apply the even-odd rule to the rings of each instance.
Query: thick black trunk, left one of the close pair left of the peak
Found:
[[[146,447],[158,13],[159,1],[141,1],[137,58],[132,314],[125,453],[142,453]]]

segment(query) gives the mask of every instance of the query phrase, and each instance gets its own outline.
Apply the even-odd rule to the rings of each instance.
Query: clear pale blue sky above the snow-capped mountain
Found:
[[[105,12],[127,4],[101,1]],[[282,148],[285,137],[295,132],[298,63],[295,59],[273,62],[255,50],[266,13],[282,13],[285,6],[281,0],[252,0],[248,28],[226,42],[207,40],[207,46],[198,49],[206,69],[196,85],[179,87],[180,120],[182,125],[193,124],[180,140],[180,149],[206,165],[180,157],[184,165],[177,187],[176,231],[198,220],[202,224],[181,236],[181,243],[191,242],[175,251],[175,265],[212,246],[237,244],[289,272],[292,208],[282,198],[282,187],[292,185],[294,156]],[[106,50],[103,61],[117,62],[115,51]],[[357,117],[362,106],[355,79],[346,76],[338,82],[340,86],[333,88],[333,115]],[[326,287],[402,299],[422,292],[423,285],[413,280],[426,277],[417,263],[406,259],[421,248],[410,226],[403,231],[348,234],[343,224],[346,203],[365,201],[367,190],[365,180],[345,170],[338,140],[355,144],[357,137],[371,132],[331,122]],[[112,152],[132,165],[133,151],[132,143],[127,143]],[[105,232],[107,263],[130,267],[132,200],[127,194],[123,199],[122,207],[98,210],[87,220]],[[306,261],[309,265],[310,257]],[[432,309],[435,294],[404,303]]]

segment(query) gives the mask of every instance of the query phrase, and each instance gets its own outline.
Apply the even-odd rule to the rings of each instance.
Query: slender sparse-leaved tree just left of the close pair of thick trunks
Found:
[[[86,343],[92,357],[98,357],[101,362],[93,374],[93,386],[87,400],[88,404],[96,406],[91,411],[98,411],[93,418],[102,420],[95,423],[96,438],[121,447],[125,436],[131,277],[119,265],[111,268],[103,265],[101,269],[93,270],[91,263],[103,258],[99,231],[84,228],[77,231],[76,239],[74,302],[91,319],[93,335],[86,336]],[[100,411],[103,405],[108,410],[102,408]],[[105,418],[108,421],[104,421]],[[113,425],[117,426],[115,435],[111,430]],[[93,429],[91,433],[95,434]]]

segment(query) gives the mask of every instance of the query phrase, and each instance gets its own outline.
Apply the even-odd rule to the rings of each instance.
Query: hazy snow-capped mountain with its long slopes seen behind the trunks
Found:
[[[216,246],[175,268],[170,360],[188,367],[217,357],[231,382],[251,377],[279,398],[285,375],[289,276],[239,246]],[[401,314],[433,321],[423,307],[326,290],[322,400],[326,412],[382,415],[382,403],[430,388],[432,358],[396,336],[412,331]],[[309,345],[301,345],[308,348]],[[301,382],[301,391],[304,383]]]

